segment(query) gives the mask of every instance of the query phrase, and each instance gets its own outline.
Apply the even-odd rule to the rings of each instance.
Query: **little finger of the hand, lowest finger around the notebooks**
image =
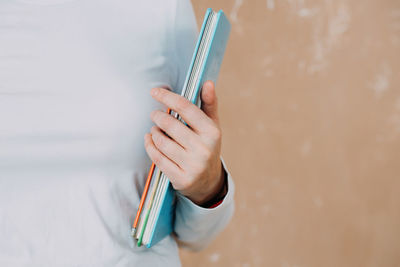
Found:
[[[151,134],[146,134],[144,136],[144,146],[151,161],[154,162],[168,178],[178,179],[179,177],[183,177],[183,171],[154,145]]]

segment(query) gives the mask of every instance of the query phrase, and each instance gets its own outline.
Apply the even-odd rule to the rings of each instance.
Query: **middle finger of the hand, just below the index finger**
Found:
[[[182,122],[165,112],[155,110],[151,120],[185,149],[190,149],[196,142],[196,135]]]

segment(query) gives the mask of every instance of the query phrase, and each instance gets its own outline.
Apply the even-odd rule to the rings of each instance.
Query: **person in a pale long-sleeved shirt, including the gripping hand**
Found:
[[[202,109],[179,95],[197,36],[189,0],[0,2],[0,266],[179,266],[227,225],[214,84]],[[177,206],[148,249],[131,226],[151,161]]]

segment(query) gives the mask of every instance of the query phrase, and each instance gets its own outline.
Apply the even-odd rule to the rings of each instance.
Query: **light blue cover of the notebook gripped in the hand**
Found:
[[[197,55],[197,51],[199,49],[200,40],[202,35],[204,34],[204,29],[206,25],[207,18],[211,14],[212,9],[209,8],[206,11],[203,25],[200,30],[199,38],[197,40],[196,48],[193,53],[192,61],[186,75],[185,84],[182,89],[182,94],[184,93],[184,88],[186,87],[191,70],[194,65],[194,61]],[[214,32],[212,33],[211,45],[206,52],[206,57],[204,61],[203,68],[200,71],[200,79],[195,87],[194,99],[191,99],[192,103],[196,104],[199,99],[201,87],[204,82],[207,80],[212,80],[214,83],[217,81],[219,69],[222,63],[222,59],[224,57],[224,52],[226,48],[226,44],[228,42],[229,33],[230,33],[231,25],[226,18],[224,12],[220,10],[217,13],[217,22]],[[174,219],[175,219],[175,191],[168,181],[167,190],[164,195],[161,196],[162,207],[159,213],[156,215],[155,227],[152,231],[150,242],[147,244],[147,247],[155,245],[157,242],[162,240],[164,237],[169,235],[174,230]]]

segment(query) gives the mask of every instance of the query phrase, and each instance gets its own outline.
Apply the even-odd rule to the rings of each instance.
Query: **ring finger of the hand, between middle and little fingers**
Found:
[[[153,126],[151,128],[151,138],[156,148],[178,166],[182,166],[186,151],[174,140],[166,136],[160,128]]]

